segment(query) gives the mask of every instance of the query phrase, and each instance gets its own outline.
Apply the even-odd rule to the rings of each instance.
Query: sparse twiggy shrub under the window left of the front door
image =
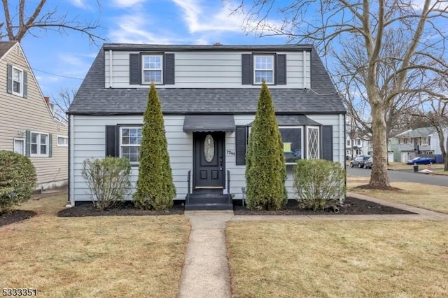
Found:
[[[93,206],[99,210],[119,206],[131,185],[128,159],[105,157],[85,159],[83,177],[90,188]]]

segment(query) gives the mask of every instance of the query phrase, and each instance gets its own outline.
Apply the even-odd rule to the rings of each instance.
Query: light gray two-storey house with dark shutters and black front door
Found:
[[[162,103],[175,199],[201,192],[242,199],[248,133],[262,80],[283,139],[288,197],[294,198],[295,159],[344,166],[346,111],[312,45],[106,43],[68,111],[71,204],[90,201],[81,176],[86,158],[127,157],[137,180],[151,82]],[[204,150],[206,143],[213,152]]]

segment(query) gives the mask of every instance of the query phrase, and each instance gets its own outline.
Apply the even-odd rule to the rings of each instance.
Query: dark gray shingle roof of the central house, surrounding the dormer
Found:
[[[163,48],[162,48],[163,47]],[[129,45],[105,44],[99,51],[83,83],[80,85],[69,114],[119,115],[142,114],[146,109],[148,88],[104,88],[104,50],[311,50],[311,88],[275,89],[272,94],[276,113],[345,113],[339,95],[328,76],[321,59],[311,45]],[[163,88],[157,86],[163,113],[255,113],[260,90],[223,88]]]

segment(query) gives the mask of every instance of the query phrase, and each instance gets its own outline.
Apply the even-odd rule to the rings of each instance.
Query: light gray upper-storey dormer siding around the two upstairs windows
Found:
[[[130,53],[137,54],[138,52],[113,51],[111,66],[109,65],[110,52],[109,50],[104,52],[104,87],[140,87],[130,85]],[[164,88],[260,88],[259,85],[241,84],[241,54],[243,53],[245,52],[175,52],[175,84],[164,85]],[[305,52],[305,71],[303,53],[303,51],[277,52],[277,54],[286,54],[288,84],[272,87],[279,89],[304,87],[309,89],[311,87],[311,53]],[[110,67],[112,67],[112,78]]]

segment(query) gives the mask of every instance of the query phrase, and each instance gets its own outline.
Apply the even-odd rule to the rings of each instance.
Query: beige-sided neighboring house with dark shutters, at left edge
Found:
[[[55,118],[16,41],[0,41],[0,85],[0,150],[31,159],[36,189],[66,185],[68,125]]]

